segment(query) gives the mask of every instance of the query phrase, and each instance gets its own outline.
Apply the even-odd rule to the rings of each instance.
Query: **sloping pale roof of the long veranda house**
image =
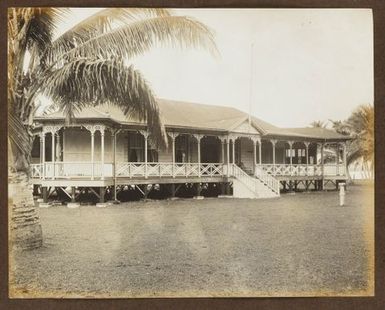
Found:
[[[166,127],[197,128],[201,130],[231,131],[247,120],[245,112],[232,107],[198,104],[184,101],[158,99],[161,118]],[[144,124],[133,118],[125,117],[122,111],[113,105],[88,107],[81,110],[77,119],[106,119],[120,124]],[[62,112],[54,112],[35,118],[36,120],[64,119]],[[257,117],[251,118],[252,125],[268,136],[290,136],[313,139],[348,139],[333,130],[324,128],[279,128]]]

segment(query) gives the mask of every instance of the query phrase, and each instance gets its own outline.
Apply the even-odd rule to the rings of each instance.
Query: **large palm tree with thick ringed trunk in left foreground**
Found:
[[[42,244],[28,189],[32,119],[40,95],[52,99],[71,121],[89,105],[110,103],[145,120],[153,140],[166,145],[151,88],[131,61],[158,44],[201,47],[216,53],[213,34],[202,23],[165,9],[103,9],[53,38],[57,8],[8,11],[8,150],[12,247]],[[29,61],[27,61],[29,55]]]

